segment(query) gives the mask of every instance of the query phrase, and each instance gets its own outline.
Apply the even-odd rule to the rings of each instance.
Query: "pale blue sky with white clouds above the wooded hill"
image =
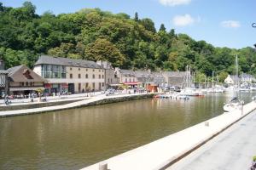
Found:
[[[4,6],[20,7],[25,1],[1,0]],[[31,0],[37,14],[74,13],[81,8],[101,8],[131,18],[150,18],[158,30],[188,34],[215,47],[245,48],[256,43],[256,0]]]

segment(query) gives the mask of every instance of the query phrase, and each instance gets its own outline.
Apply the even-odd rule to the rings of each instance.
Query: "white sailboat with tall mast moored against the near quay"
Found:
[[[235,90],[238,88],[238,80],[237,80],[237,75],[238,75],[238,59],[236,55],[236,77],[235,77]],[[224,111],[230,112],[230,111],[236,111],[241,109],[243,101],[240,101],[237,97],[237,90],[236,90],[236,96],[233,99],[230,99],[230,102],[227,104],[224,104]]]

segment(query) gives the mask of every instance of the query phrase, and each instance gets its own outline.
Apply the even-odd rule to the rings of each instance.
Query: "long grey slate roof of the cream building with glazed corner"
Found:
[[[102,65],[98,65],[94,61],[89,61],[85,59],[68,59],[62,57],[52,57],[49,55],[41,55],[35,65],[42,64],[103,69]]]

